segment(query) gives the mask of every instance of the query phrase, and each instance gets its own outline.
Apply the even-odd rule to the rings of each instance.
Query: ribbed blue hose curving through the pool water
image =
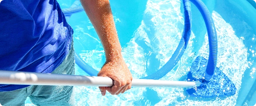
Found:
[[[205,80],[209,81],[212,78],[212,75],[215,72],[216,64],[217,64],[217,53],[218,53],[218,42],[217,42],[217,34],[215,31],[215,26],[212,21],[212,17],[210,15],[209,10],[204,5],[204,3],[201,0],[190,0],[192,3],[197,6],[199,11],[201,12],[202,16],[204,17],[205,24],[207,26],[207,33],[208,33],[208,39],[209,39],[209,61],[207,63],[207,69],[205,73]],[[165,76],[169,71],[175,67],[177,62],[180,60],[181,56],[183,55],[184,51],[186,50],[187,44],[189,42],[190,34],[191,34],[191,25],[192,25],[192,18],[191,18],[191,6],[189,3],[189,0],[183,0],[183,6],[184,6],[184,30],[183,35],[180,39],[180,43],[175,50],[174,54],[172,55],[171,59],[167,61],[167,63],[160,68],[157,72],[153,73],[152,75],[148,75],[146,77],[143,77],[141,79],[160,79],[163,76]],[[82,10],[81,10],[82,9]],[[62,9],[63,13],[65,15],[70,15],[73,13],[77,13],[80,11],[84,11],[83,8],[76,7],[76,8],[67,8]],[[99,73],[97,70],[90,67],[88,64],[86,64],[77,54],[75,54],[75,60],[76,64],[84,70],[86,73],[88,73],[91,76],[97,76]]]

